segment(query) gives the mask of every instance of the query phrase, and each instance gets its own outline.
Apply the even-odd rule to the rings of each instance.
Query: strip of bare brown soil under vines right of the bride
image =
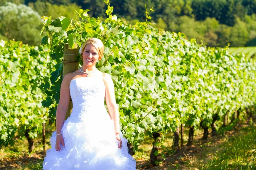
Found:
[[[159,160],[163,161],[158,166],[154,167],[150,164],[150,160],[137,159],[137,170],[198,170],[197,168],[189,168],[189,162],[198,161],[198,158],[203,158],[205,155],[204,148],[207,147],[212,153],[218,150],[216,145],[225,142],[227,138],[230,138],[241,130],[243,127],[247,127],[248,122],[244,124],[238,124],[233,130],[225,131],[224,135],[212,136],[211,130],[207,140],[202,140],[203,135],[194,136],[194,144],[191,147],[185,146],[180,147],[173,155],[166,155],[166,159],[158,157]],[[212,156],[207,155],[205,159],[212,160]]]

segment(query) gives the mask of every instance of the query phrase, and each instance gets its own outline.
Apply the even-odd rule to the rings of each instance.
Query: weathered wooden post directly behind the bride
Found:
[[[63,74],[64,77],[67,73],[72,73],[79,68],[79,49],[77,48],[77,44],[75,48],[71,49],[69,44],[64,45],[64,54],[63,54]],[[63,78],[62,77],[62,78]],[[66,119],[70,116],[70,113],[73,108],[72,100],[70,99],[70,103],[67,108]]]

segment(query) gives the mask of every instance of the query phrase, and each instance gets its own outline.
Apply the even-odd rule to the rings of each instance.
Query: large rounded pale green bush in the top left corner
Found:
[[[9,40],[40,45],[42,21],[37,12],[25,5],[6,3],[0,6],[0,34]]]

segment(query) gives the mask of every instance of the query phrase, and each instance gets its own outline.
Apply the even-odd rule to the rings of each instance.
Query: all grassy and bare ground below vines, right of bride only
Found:
[[[196,130],[192,147],[182,147],[174,155],[167,156],[158,167],[150,166],[153,142],[150,139],[149,143],[141,144],[139,152],[134,155],[138,170],[256,170],[256,124],[251,122],[233,129],[222,136],[212,138],[209,135],[207,141],[201,140],[202,130]],[[222,131],[221,128],[219,130]],[[184,137],[187,139],[187,136]],[[171,145],[172,142],[169,149]]]

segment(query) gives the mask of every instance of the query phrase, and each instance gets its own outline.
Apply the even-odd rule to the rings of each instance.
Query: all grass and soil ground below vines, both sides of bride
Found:
[[[47,142],[53,127],[47,127]],[[186,131],[185,131],[186,134]],[[167,134],[164,146],[170,149],[173,133]],[[256,170],[256,124],[237,127],[223,136],[209,137],[201,141],[202,130],[196,130],[192,147],[183,147],[173,155],[166,156],[158,167],[150,166],[153,139],[146,137],[134,158],[138,170]],[[185,140],[187,136],[184,136]],[[186,141],[185,141],[186,143]],[[0,169],[41,170],[44,151],[40,137],[35,142],[35,151],[28,153],[25,138],[16,140],[15,146],[0,150]],[[49,144],[47,144],[47,149]]]

